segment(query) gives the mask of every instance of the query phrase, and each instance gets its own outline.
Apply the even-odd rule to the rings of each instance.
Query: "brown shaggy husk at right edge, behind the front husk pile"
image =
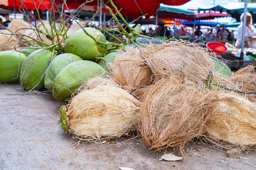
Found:
[[[256,90],[256,71],[255,66],[248,65],[237,70],[228,80],[232,81],[240,90],[252,92]],[[248,95],[255,99],[255,94]]]

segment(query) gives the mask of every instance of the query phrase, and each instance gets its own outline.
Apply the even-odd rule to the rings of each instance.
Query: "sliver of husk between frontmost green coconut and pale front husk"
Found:
[[[82,92],[83,90],[89,90],[97,87],[98,85],[111,85],[111,86],[119,86],[113,78],[103,78],[100,76],[96,76],[86,81],[83,85],[79,87],[78,92]],[[120,87],[120,86],[119,86]]]

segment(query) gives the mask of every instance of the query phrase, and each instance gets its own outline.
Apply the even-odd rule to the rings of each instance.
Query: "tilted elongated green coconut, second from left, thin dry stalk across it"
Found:
[[[27,56],[20,72],[20,84],[25,90],[38,90],[44,87],[44,72],[48,68],[51,58],[52,52],[42,49]]]

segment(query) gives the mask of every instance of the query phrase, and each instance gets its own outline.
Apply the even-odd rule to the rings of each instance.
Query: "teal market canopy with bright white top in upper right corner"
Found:
[[[247,7],[248,12],[252,14],[252,18],[256,18],[256,3],[248,3]],[[240,21],[240,15],[244,12],[244,2],[230,2],[227,5],[219,4],[198,8],[198,12],[200,11],[226,11],[227,13],[231,14],[232,17],[236,18],[237,21]]]

